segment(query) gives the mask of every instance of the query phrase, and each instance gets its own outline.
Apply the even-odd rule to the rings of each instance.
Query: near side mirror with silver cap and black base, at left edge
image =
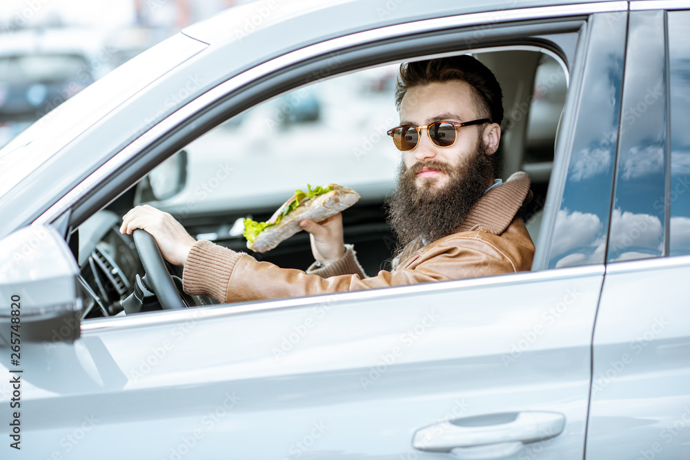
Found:
[[[0,347],[79,339],[78,279],[77,261],[52,228],[30,226],[1,240]]]

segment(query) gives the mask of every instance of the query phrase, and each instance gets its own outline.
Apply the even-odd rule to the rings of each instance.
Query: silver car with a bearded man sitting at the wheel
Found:
[[[688,457],[689,39],[682,1],[260,1],[128,61],[0,150],[2,458]],[[150,202],[246,250],[237,219],[337,181],[385,268],[399,120],[362,82],[462,53],[532,178],[530,272],[218,305],[117,231]],[[318,119],[275,128],[305,88]]]

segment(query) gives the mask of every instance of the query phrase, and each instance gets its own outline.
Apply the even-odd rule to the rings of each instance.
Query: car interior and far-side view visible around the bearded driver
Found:
[[[519,170],[531,177],[533,199],[522,217],[536,246],[566,99],[567,67],[558,55],[535,46],[472,54],[501,83],[500,177],[505,180]],[[306,270],[313,262],[306,232],[259,254],[246,247],[242,221],[268,220],[295,190],[339,183],[361,195],[343,213],[345,242],[355,246],[368,275],[389,270],[395,234],[382,204],[395,188],[400,163],[400,153],[386,135],[399,121],[393,98],[399,66],[395,62],[328,76],[244,110],[172,152],[84,221],[68,241],[81,268],[83,319],[124,314],[124,306],[141,297],[135,292],[141,286],[137,277],[144,275],[137,246],[119,233],[119,224],[128,210],[143,203],[170,212],[197,239]],[[168,270],[181,292],[181,268],[168,263]],[[181,294],[186,306],[215,303]],[[125,308],[127,313],[161,308],[150,297],[139,304]]]

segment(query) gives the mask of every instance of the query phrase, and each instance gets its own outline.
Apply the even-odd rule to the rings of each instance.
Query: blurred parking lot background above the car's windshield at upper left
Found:
[[[159,41],[250,0],[1,0],[0,147]]]

